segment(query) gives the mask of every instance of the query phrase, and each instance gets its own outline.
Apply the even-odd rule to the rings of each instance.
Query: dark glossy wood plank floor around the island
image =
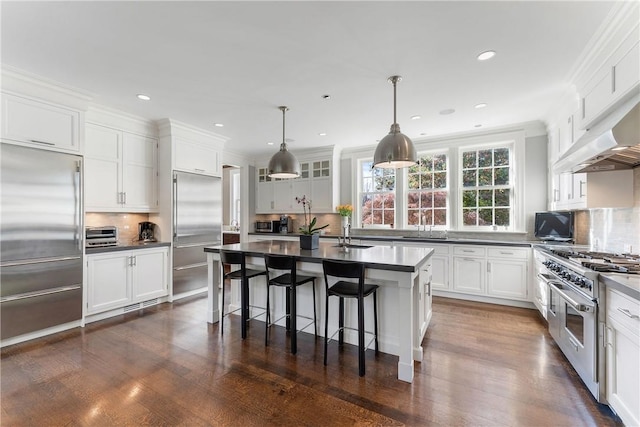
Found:
[[[263,323],[205,321],[206,299],[164,304],[2,349],[2,426],[613,426],[526,309],[435,299],[415,380],[397,358]],[[236,317],[236,316],[233,316]]]

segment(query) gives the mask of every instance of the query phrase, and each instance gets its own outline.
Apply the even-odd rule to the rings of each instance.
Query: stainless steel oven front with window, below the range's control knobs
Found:
[[[549,332],[571,362],[587,388],[599,399],[597,371],[597,305],[570,286],[549,282],[550,304],[554,307],[555,331]],[[549,307],[551,311],[551,307]]]

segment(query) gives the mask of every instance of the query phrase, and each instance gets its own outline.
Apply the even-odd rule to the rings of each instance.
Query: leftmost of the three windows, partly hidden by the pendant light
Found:
[[[371,169],[372,161],[360,163],[360,222],[367,224],[395,223],[396,171]]]

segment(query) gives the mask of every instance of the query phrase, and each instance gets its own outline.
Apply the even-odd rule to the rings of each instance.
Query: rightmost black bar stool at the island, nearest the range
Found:
[[[364,283],[364,264],[354,261],[322,261],[322,269],[324,271],[324,283],[326,289],[326,312],[324,318],[324,364],[327,365],[327,343],[329,339],[332,339],[336,333],[338,333],[338,342],[340,345],[344,344],[344,330],[356,330],[344,326],[344,299],[356,298],[358,300],[358,373],[362,377],[364,376],[364,353],[365,350],[371,345],[372,341],[375,341],[376,353],[378,353],[378,304],[376,299],[376,290],[378,285],[367,285]],[[346,278],[346,279],[358,279],[357,283],[354,281],[338,280],[333,286],[329,286],[329,277],[333,278]],[[364,329],[364,298],[373,294],[373,332],[365,331]],[[338,330],[327,338],[329,335],[329,297],[337,296],[340,298],[339,306],[339,319]],[[372,334],[371,341],[365,347],[364,335]]]

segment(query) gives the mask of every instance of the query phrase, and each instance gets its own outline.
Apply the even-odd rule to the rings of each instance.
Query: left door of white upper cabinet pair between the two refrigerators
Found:
[[[122,132],[87,124],[85,127],[84,194],[87,211],[121,208]]]

